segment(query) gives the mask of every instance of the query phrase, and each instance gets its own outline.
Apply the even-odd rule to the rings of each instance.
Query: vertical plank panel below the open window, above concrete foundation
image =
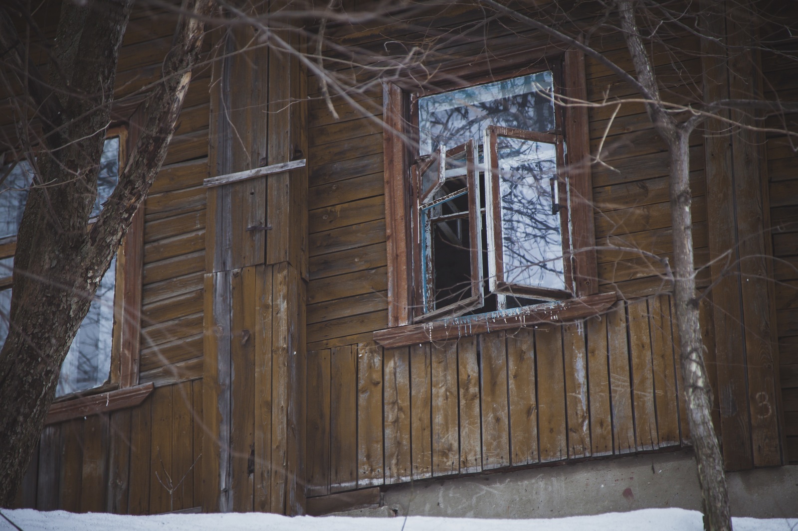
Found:
[[[565,327],[310,352],[307,494],[689,444],[677,368],[667,295]]]

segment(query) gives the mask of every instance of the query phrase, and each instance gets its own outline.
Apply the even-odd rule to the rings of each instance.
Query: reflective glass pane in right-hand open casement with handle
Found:
[[[504,281],[565,289],[563,237],[552,214],[551,178],[556,177],[554,144],[498,136],[499,190]]]

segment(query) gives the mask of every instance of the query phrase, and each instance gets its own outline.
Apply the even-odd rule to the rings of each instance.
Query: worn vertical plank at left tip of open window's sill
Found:
[[[384,482],[382,348],[358,344],[358,489]]]

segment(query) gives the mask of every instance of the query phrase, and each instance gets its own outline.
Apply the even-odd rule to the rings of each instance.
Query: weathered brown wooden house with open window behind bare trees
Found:
[[[690,446],[656,258],[666,145],[641,103],[606,104],[634,88],[530,21],[632,71],[622,35],[579,2],[355,3],[264,2],[267,37],[211,30],[117,258],[111,376],[53,404],[19,506],[319,513],[341,493]],[[751,20],[720,25],[728,48],[686,26],[646,41],[665,97],[795,100],[794,57],[754,49],[770,26]],[[122,130],[174,27],[134,10]],[[723,117],[689,159],[715,427],[728,470],[798,464],[792,123]]]

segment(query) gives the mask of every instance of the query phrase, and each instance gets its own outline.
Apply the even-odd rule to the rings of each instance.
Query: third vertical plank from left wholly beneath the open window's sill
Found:
[[[457,422],[457,342],[430,348],[433,382],[433,476],[460,471]]]

